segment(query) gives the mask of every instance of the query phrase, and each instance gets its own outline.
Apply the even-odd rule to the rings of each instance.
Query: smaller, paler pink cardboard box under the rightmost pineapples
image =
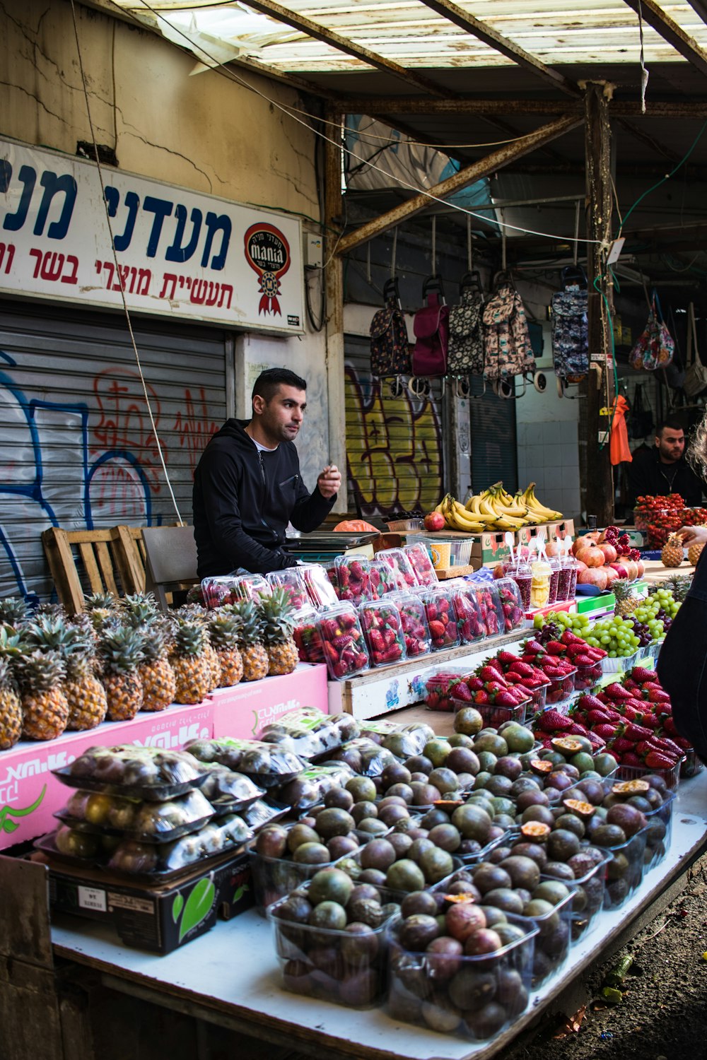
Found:
[[[294,673],[264,681],[242,681],[211,693],[214,737],[257,739],[265,725],[297,707],[329,713],[326,667],[300,662]]]

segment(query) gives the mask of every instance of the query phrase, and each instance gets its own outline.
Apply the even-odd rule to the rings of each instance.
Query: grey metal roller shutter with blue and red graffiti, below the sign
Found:
[[[181,517],[226,418],[222,330],[132,319]],[[176,513],[125,320],[0,302],[0,596],[48,599],[40,534],[172,523]],[[5,562],[6,561],[6,562]]]

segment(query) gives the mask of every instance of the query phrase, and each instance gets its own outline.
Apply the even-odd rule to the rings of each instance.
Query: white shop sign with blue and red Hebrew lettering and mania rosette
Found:
[[[0,138],[0,292],[303,331],[300,223]]]

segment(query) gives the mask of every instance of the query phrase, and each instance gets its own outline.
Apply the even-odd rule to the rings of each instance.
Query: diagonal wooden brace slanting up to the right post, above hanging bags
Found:
[[[353,232],[349,232],[348,235],[339,240],[336,253],[348,253],[354,247],[360,246],[361,243],[367,243],[375,235],[381,235],[389,228],[400,225],[402,220],[407,220],[417,213],[421,213],[422,210],[429,206],[434,198],[446,198],[453,195],[454,192],[473,184],[475,180],[488,177],[490,174],[508,165],[509,162],[523,158],[524,155],[529,155],[546,143],[550,143],[551,140],[556,140],[558,137],[564,136],[565,132],[570,132],[578,125],[581,125],[583,120],[582,114],[566,114],[558,119],[558,121],[550,122],[548,125],[542,125],[533,132],[529,132],[528,136],[516,140],[515,143],[507,144],[498,151],[492,152],[491,155],[479,159],[473,165],[469,165],[466,169],[455,173],[454,176],[447,177],[446,180],[442,180],[439,184],[435,184],[427,193],[414,195],[407,202],[401,202],[400,206],[388,210],[379,217],[374,217],[373,220],[369,220]]]

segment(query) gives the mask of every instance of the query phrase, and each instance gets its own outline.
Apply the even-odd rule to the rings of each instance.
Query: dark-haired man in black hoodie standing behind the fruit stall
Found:
[[[199,578],[237,567],[259,573],[296,564],[282,548],[291,523],[316,530],[331,511],[341,475],[324,467],[310,493],[294,439],[306,408],[306,383],[286,368],[255,379],[252,419],[227,420],[194,473],[194,538]]]

